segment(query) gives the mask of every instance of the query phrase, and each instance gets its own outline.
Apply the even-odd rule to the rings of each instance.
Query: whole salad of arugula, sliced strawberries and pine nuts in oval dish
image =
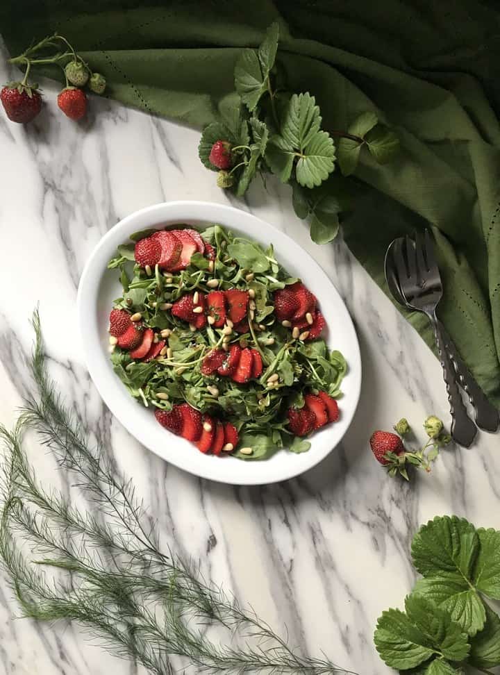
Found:
[[[203,453],[244,460],[340,416],[347,369],[313,293],[267,249],[220,225],[141,231],[108,263],[122,296],[110,358],[128,392]]]

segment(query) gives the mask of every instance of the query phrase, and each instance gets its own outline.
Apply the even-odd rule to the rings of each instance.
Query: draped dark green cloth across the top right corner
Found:
[[[397,131],[396,160],[379,166],[362,153],[356,177],[365,189],[344,221],[344,238],[387,292],[387,244],[432,228],[445,289],[438,313],[500,406],[496,2],[6,0],[0,8],[13,56],[57,30],[106,76],[110,97],[200,128],[233,91],[240,49],[258,45],[273,21],[289,88],[315,95],[324,128],[345,129],[375,110]],[[433,346],[427,319],[407,316]]]

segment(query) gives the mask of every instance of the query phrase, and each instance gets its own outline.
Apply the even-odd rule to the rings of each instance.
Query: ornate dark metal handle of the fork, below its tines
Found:
[[[440,330],[440,325],[437,323],[437,317],[434,313],[429,313],[428,317],[433,324],[437,350],[439,351],[444,374],[444,382],[447,386],[451,412],[451,437],[459,445],[468,448],[476,437],[477,427],[467,415],[467,408],[464,406],[460,390],[458,389],[458,383],[455,378],[453,362],[449,357],[444,336]]]

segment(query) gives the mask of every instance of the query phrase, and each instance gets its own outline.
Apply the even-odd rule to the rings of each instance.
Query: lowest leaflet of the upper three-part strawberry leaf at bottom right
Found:
[[[485,624],[483,601],[465,579],[442,577],[419,579],[413,593],[447,610],[453,621],[469,635],[476,635]]]

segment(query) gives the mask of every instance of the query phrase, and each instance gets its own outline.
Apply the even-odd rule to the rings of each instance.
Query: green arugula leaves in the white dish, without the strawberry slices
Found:
[[[138,240],[151,231],[131,236]],[[322,339],[302,342],[292,338],[288,328],[274,315],[273,292],[297,281],[278,263],[272,245],[263,249],[220,225],[208,226],[203,239],[215,249],[213,269],[201,253],[192,255],[190,265],[181,272],[151,270],[136,265],[133,244],[124,244],[108,267],[117,269],[122,283],[116,308],[140,312],[144,326],[163,331],[171,356],[158,356],[147,363],[134,361],[128,351],[116,348],[110,358],[115,373],[128,392],[142,405],[171,410],[174,403],[187,401],[201,412],[228,420],[238,429],[240,447],[251,446],[252,455],[233,453],[244,460],[265,459],[279,448],[307,451],[310,443],[296,438],[288,428],[288,408],[304,405],[303,392],[325,391],[340,397],[340,384],[347,364],[339,351],[330,351]],[[213,279],[218,290],[253,289],[255,318],[247,333],[233,333],[230,344],[257,349],[263,359],[261,376],[247,384],[231,378],[201,373],[201,362],[210,349],[220,347],[222,328],[207,324],[192,331],[169,311],[171,303],[188,292],[208,293]],[[166,304],[168,304],[168,308]],[[270,386],[270,376],[279,376]],[[275,378],[274,378],[275,379]],[[215,394],[214,394],[215,391]],[[158,398],[168,394],[168,399]]]

